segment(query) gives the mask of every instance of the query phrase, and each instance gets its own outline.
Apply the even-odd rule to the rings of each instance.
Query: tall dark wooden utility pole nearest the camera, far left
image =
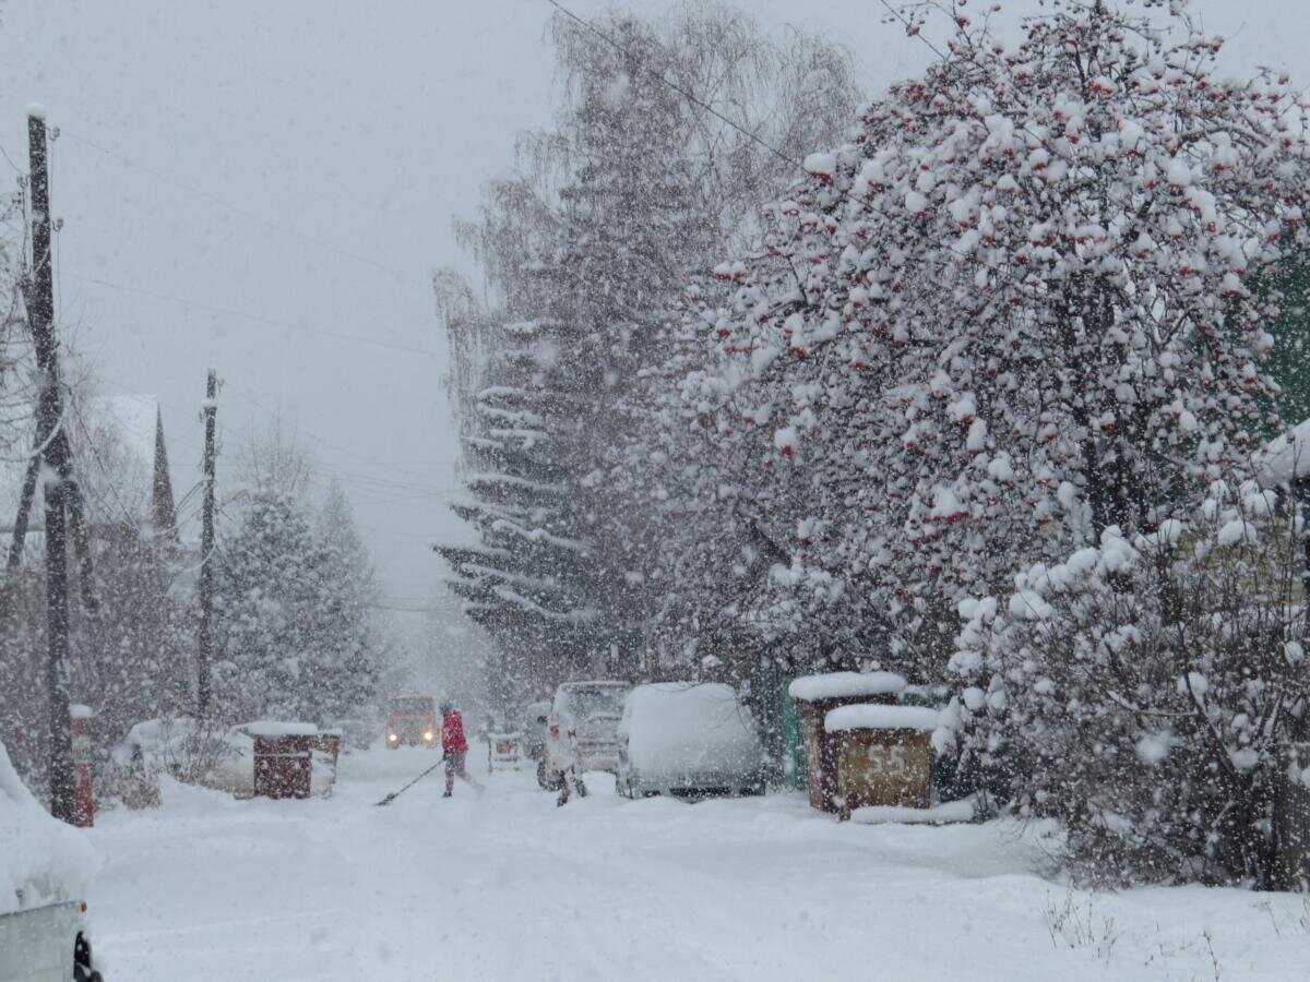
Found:
[[[37,446],[46,465],[46,700],[50,738],[50,813],[73,821],[72,735],[68,719],[68,536],[66,507],[72,477],[68,439],[63,429],[64,394],[55,339],[55,291],[50,264],[50,170],[46,119],[28,114],[31,165],[31,280],[28,284],[28,326],[41,372],[37,405]],[[76,494],[76,491],[73,491]]]

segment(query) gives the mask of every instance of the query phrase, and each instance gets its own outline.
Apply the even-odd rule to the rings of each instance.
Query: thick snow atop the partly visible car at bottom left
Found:
[[[94,862],[83,834],[37,804],[0,744],[0,914],[80,898]]]

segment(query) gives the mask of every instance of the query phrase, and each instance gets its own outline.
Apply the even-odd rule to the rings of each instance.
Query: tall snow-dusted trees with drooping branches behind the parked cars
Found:
[[[770,42],[749,18],[717,8],[658,24],[616,14],[600,30],[614,43],[555,21],[566,93],[558,127],[525,137],[528,174],[493,185],[481,219],[465,227],[503,308],[464,318],[483,325],[481,346],[461,342],[468,331],[447,318],[464,351],[493,352],[476,390],[455,386],[461,418],[514,423],[532,414],[531,444],[512,448],[517,462],[486,443],[503,433],[465,433],[469,490],[500,508],[531,500],[538,511],[529,532],[538,532],[506,541],[504,516],[461,504],[490,550],[445,553],[462,573],[461,594],[478,593],[470,609],[490,604],[511,614],[516,631],[532,626],[541,639],[533,655],[557,661],[555,677],[580,668],[579,659],[614,653],[610,670],[635,670],[652,647],[667,559],[677,553],[669,533],[692,547],[701,530],[671,525],[650,507],[643,475],[663,440],[651,416],[667,389],[658,369],[647,372],[669,355],[683,285],[730,244],[749,241],[760,203],[791,166],[787,156],[832,139],[854,92],[838,51],[800,34]],[[703,93],[761,141],[669,82]],[[525,453],[540,460],[528,464]],[[496,471],[485,466],[489,456]],[[489,490],[496,474],[512,486],[496,478],[504,487]],[[529,579],[515,584],[506,573]],[[561,614],[586,614],[587,623],[559,627]],[[686,636],[664,640],[679,651]]]

